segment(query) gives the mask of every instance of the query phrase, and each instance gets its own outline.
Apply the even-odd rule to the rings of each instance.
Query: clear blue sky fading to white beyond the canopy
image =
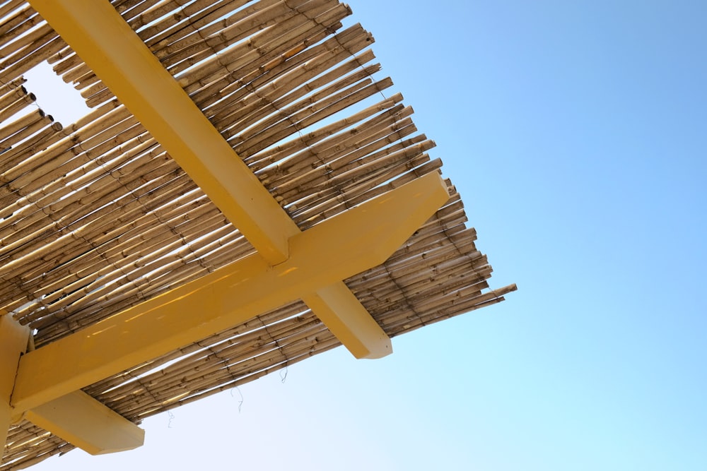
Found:
[[[707,470],[707,2],[349,3],[518,292],[34,469]]]

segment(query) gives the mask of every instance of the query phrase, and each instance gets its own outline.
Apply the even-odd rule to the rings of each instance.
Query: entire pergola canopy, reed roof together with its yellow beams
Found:
[[[1,471],[134,448],[145,417],[515,290],[349,15],[0,1]],[[28,90],[45,61],[75,123]]]

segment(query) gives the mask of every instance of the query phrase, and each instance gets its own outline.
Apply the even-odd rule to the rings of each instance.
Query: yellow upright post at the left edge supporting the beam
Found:
[[[15,385],[20,355],[27,349],[29,338],[29,328],[21,326],[5,311],[0,311],[0,446],[5,446],[7,440],[13,416],[10,396]]]

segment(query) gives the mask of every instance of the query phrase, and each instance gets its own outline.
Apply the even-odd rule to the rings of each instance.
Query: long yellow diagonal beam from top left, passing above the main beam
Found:
[[[211,201],[271,264],[297,225],[107,0],[30,0]],[[346,302],[344,302],[346,299]],[[329,300],[334,304],[329,304]],[[343,282],[303,301],[357,358],[392,352],[390,338]]]

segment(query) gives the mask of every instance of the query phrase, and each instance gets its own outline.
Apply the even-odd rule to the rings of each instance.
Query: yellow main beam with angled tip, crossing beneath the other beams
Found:
[[[279,265],[252,254],[29,352],[11,405],[32,409],[376,266],[448,198],[428,174],[291,237]]]

